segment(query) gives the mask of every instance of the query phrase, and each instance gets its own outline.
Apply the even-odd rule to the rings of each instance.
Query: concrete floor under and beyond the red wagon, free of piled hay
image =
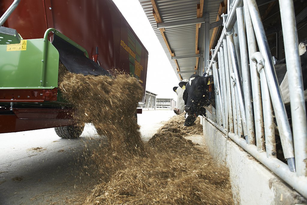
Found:
[[[144,141],[173,115],[166,110],[138,114]],[[78,156],[98,137],[91,124],[73,140],[58,137],[53,128],[0,134],[0,204],[80,204],[77,198],[90,194],[96,182],[90,173],[80,175]]]

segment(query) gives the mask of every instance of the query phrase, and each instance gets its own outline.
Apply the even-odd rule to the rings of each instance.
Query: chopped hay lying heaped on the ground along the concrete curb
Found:
[[[165,129],[174,120],[148,141],[145,157],[114,156],[113,163],[121,168],[109,172],[108,180],[101,179],[84,204],[233,204],[227,168],[216,166],[209,153],[195,148],[180,130]],[[102,178],[112,164],[106,159],[102,155]]]

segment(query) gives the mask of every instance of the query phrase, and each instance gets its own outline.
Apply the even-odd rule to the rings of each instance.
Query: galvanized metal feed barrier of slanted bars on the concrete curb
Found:
[[[293,1],[279,5],[293,133],[255,0],[235,0],[223,15],[206,71],[214,76],[216,110],[206,119],[307,198],[306,108]],[[287,164],[276,157],[274,116]]]

